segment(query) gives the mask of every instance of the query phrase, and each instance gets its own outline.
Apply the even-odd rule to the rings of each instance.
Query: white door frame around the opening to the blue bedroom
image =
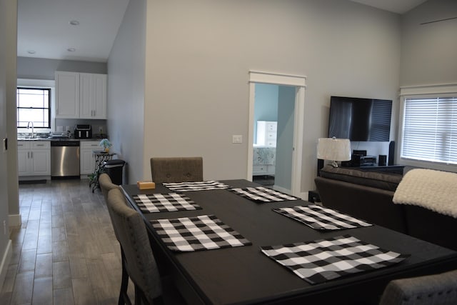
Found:
[[[264,71],[249,71],[249,128],[248,128],[248,181],[252,181],[253,169],[253,132],[254,132],[254,104],[256,99],[256,84],[273,84],[294,86],[295,109],[293,121],[293,148],[292,148],[292,180],[291,195],[301,194],[301,164],[303,160],[303,121],[305,109],[306,76],[280,74]]]

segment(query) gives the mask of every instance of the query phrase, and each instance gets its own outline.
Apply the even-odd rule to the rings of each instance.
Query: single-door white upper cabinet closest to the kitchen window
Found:
[[[56,71],[56,118],[79,118],[79,73]]]

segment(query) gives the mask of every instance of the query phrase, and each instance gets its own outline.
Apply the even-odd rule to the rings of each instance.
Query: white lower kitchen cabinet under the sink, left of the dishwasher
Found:
[[[51,175],[51,142],[18,141],[19,176]]]

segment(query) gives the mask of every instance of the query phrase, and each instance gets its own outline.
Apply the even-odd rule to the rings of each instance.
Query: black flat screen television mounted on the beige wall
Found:
[[[392,101],[331,96],[328,137],[351,141],[389,141]]]

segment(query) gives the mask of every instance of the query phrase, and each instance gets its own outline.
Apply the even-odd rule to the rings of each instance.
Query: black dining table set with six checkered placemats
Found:
[[[457,269],[451,249],[280,191],[270,196],[245,179],[202,182],[216,186],[121,186],[144,219],[159,271],[188,304],[377,304],[393,279]],[[214,240],[186,241],[206,225],[216,226]],[[183,226],[191,233],[179,234]]]

